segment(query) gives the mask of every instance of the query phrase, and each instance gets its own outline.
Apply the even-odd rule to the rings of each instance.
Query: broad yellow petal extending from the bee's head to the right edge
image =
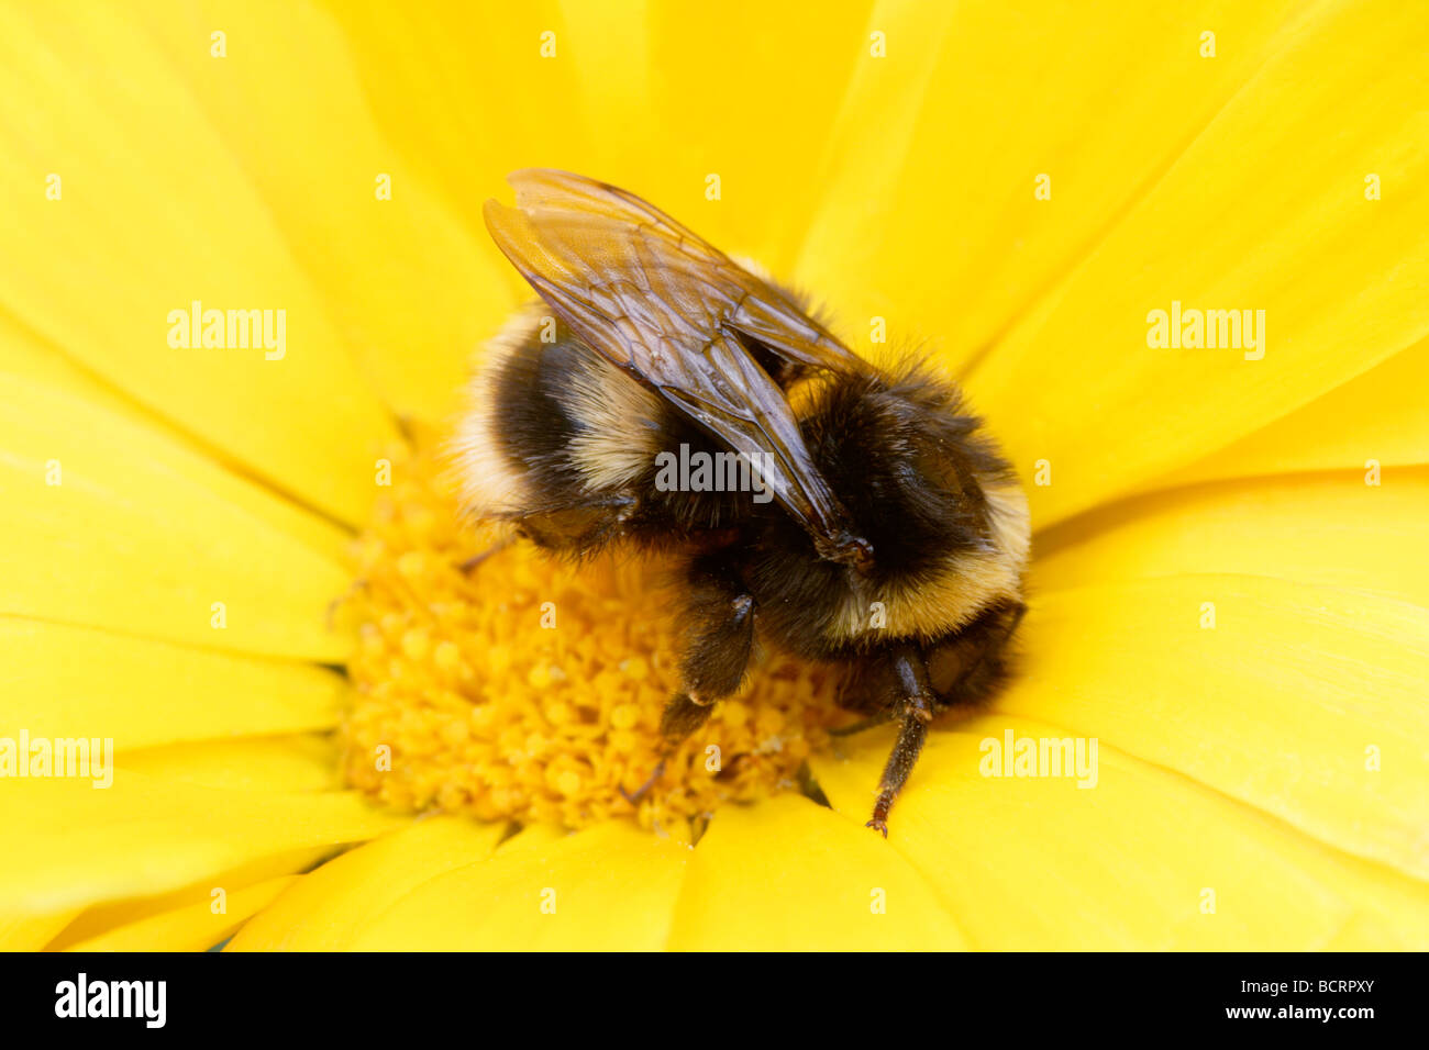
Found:
[[[1040,594],[1023,649],[1000,710],[1429,876],[1425,609],[1265,577],[1176,576]]]

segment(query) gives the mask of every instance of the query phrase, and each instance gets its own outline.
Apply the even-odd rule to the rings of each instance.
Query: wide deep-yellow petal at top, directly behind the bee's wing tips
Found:
[[[504,176],[553,166],[624,186],[777,270],[803,237],[820,144],[869,43],[866,0],[826,3],[817,19],[755,0],[330,10],[380,127],[483,244],[480,204]],[[503,104],[473,101],[493,97]]]

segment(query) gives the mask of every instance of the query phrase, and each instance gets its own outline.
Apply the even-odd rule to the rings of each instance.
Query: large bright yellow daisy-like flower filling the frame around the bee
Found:
[[[117,766],[0,779],[0,946],[1429,946],[1415,4],[129,7],[0,9],[0,763],[24,734]],[[563,764],[389,799],[450,814],[347,786],[383,790],[340,757],[374,739],[359,689],[412,761],[469,743],[362,646],[454,676],[437,707],[477,654],[410,604],[394,641],[344,629],[383,600],[347,551],[394,580],[383,550],[467,541],[433,503],[374,550],[374,494],[529,296],[479,210],[533,164],[759,259],[863,351],[876,319],[930,340],[1023,476],[1022,670],[933,734],[887,841],[887,736],[817,719],[806,790],[694,826],[556,806],[564,833],[537,801],[607,770],[526,737],[473,761]],[[253,339],[191,339],[207,309]],[[1157,310],[1263,339],[1153,346]],[[497,600],[446,611],[540,691]],[[659,671],[622,644],[580,667]],[[600,710],[592,754],[640,739],[644,707]],[[989,776],[1029,737],[1095,739],[1095,786]]]

